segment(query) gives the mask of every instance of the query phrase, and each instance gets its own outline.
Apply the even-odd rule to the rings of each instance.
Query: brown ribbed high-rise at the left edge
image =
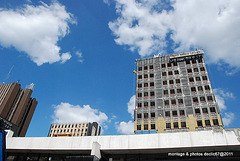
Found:
[[[26,135],[38,103],[31,98],[33,86],[23,90],[18,83],[0,85],[0,120],[14,132],[13,136]]]

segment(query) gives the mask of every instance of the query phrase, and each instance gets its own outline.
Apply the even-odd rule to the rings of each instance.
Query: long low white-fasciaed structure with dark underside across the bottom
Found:
[[[7,161],[240,160],[240,129],[88,137],[7,137]]]

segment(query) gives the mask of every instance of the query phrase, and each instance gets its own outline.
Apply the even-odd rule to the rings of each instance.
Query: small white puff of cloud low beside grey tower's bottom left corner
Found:
[[[119,133],[121,134],[133,134],[134,131],[134,123],[132,121],[128,121],[128,122],[120,122],[119,124],[116,124],[116,129]]]

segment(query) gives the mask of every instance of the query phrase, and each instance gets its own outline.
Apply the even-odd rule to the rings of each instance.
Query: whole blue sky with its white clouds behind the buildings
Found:
[[[225,128],[239,128],[239,1],[0,0],[0,79],[35,84],[27,136],[53,122],[133,133],[135,59],[205,51]]]

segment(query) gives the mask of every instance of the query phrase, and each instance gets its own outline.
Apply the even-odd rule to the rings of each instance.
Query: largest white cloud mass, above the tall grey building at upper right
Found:
[[[165,50],[170,34],[176,52],[203,48],[210,62],[240,68],[238,6],[237,0],[116,0],[118,18],[109,28],[117,44],[141,56]]]

